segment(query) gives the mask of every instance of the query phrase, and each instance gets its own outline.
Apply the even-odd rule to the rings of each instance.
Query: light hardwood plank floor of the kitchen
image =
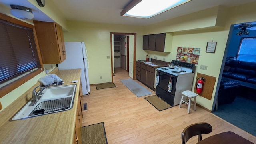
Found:
[[[208,122],[212,125],[213,131],[204,134],[203,139],[220,132],[232,131],[256,143],[255,136],[200,107],[196,111],[192,109],[190,114],[187,113],[185,104],[182,108],[174,106],[159,112],[144,99],[147,96],[138,98],[120,82],[126,78],[129,78],[128,72],[116,68],[116,88],[96,90],[96,86],[90,86],[90,96],[83,97],[88,110],[83,112],[82,126],[104,122],[108,144],[181,144],[182,130],[196,122]],[[141,84],[137,80],[136,82]],[[154,95],[154,91],[144,87]],[[188,144],[196,142],[197,137],[194,137]]]

